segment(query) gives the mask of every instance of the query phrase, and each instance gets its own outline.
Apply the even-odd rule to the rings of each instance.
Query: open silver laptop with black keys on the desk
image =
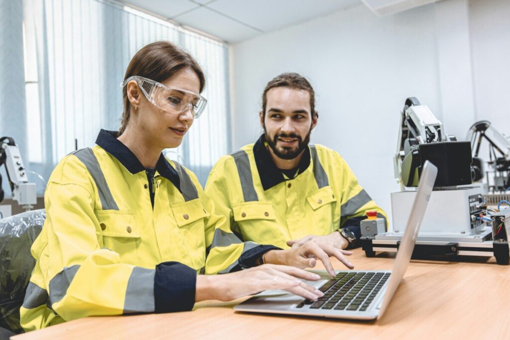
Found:
[[[393,270],[336,271],[333,279],[325,270],[312,271],[324,278],[305,281],[324,293],[319,300],[303,299],[286,291],[266,291],[238,304],[234,310],[356,320],[380,319],[409,265],[437,173],[438,168],[426,161]]]

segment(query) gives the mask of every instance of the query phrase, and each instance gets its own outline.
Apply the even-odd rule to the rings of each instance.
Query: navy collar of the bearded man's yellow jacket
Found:
[[[286,179],[281,169],[274,164],[269,151],[265,145],[264,134],[260,136],[259,140],[253,145],[253,156],[257,170],[259,172],[260,181],[264,190],[271,189],[272,187],[284,182]],[[298,176],[310,166],[310,148],[304,149],[301,160],[298,164]]]

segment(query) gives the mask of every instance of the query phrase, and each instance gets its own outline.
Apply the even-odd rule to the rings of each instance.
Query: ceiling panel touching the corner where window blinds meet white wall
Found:
[[[260,32],[253,30],[246,25],[213,12],[205,7],[200,7],[191,12],[179,15],[175,18],[175,21],[212,34],[228,42],[238,42],[260,34]]]

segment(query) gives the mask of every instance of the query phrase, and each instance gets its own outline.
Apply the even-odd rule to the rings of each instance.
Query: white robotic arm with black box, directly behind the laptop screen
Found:
[[[471,184],[471,144],[444,133],[443,124],[415,97],[405,100],[395,154],[395,178],[418,186],[425,161],[438,167],[435,187]]]

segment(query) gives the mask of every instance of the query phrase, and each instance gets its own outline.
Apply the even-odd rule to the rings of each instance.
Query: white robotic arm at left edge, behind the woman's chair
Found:
[[[0,167],[5,164],[7,177],[12,190],[12,198],[19,205],[30,209],[37,203],[35,183],[29,183],[19,149],[11,137],[0,138]],[[2,176],[0,176],[0,202],[4,199]]]

